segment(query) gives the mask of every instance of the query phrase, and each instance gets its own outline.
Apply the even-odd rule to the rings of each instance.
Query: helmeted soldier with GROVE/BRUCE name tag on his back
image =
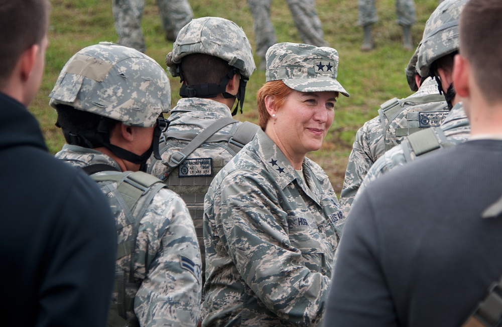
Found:
[[[204,264],[204,196],[213,176],[258,129],[232,119],[239,107],[242,112],[246,83],[256,67],[242,29],[218,17],[194,19],[183,27],[166,64],[173,76],[180,77],[182,99],[162,135],[162,160],[152,157],[148,172],[185,200]]]

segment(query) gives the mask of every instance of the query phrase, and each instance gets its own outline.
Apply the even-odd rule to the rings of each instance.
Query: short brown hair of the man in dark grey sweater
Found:
[[[460,54],[471,67],[485,100],[502,100],[502,2],[470,0],[460,14]]]

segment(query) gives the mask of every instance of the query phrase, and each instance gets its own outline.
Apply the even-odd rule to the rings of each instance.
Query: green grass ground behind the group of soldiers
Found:
[[[64,144],[64,139],[54,126],[56,114],[48,105],[48,95],[61,68],[78,50],[99,41],[114,42],[117,36],[110,0],[51,0],[51,3],[50,45],[45,76],[30,110],[40,121],[50,151],[55,153]],[[253,19],[246,0],[189,0],[189,3],[196,18],[219,16],[234,21],[242,27],[255,49]],[[401,46],[401,27],[395,23],[395,0],[378,0],[376,4],[380,18],[373,29],[376,48],[362,53],[359,51],[362,31],[356,24],[357,1],[316,1],[325,40],[338,50],[340,56],[338,80],[351,95],[349,98],[341,97],[337,102],[335,121],[322,148],[308,154],[324,168],[337,195],[340,194],[347,158],[357,129],[376,115],[376,110],[384,101],[411,94],[404,68],[413,53]],[[412,33],[414,43],[418,45],[425,22],[436,8],[437,0],[415,0],[415,6],[417,23]],[[285,0],[272,1],[272,17],[278,42],[302,42]],[[164,58],[172,49],[172,43],[164,39],[155,0],[146,0],[142,25],[147,55],[165,67]],[[179,79],[169,77],[174,105],[179,99]],[[244,113],[235,116],[236,119],[257,122],[256,92],[264,82],[265,73],[256,71],[247,84]]]

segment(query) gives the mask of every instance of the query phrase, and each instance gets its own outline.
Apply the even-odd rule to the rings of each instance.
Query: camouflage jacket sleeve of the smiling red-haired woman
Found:
[[[260,174],[228,175],[214,194],[215,230],[240,276],[269,310],[295,325],[311,325],[322,317],[329,277],[312,272],[292,245],[281,203],[301,199],[280,193]]]

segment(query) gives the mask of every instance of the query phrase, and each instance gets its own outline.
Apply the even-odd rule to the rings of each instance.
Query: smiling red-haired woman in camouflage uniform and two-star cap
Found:
[[[318,325],[343,215],[318,150],[339,93],[335,49],[279,43],[267,52],[259,125],[204,202],[202,325]]]

